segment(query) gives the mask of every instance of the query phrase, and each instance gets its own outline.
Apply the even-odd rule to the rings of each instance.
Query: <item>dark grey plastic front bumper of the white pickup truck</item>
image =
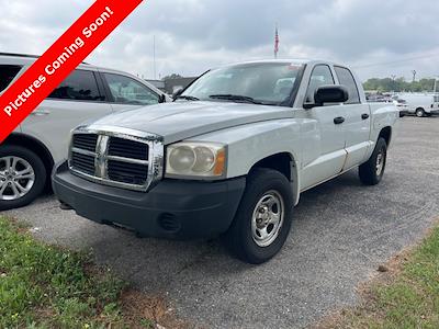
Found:
[[[53,173],[53,188],[79,216],[116,224],[142,236],[167,239],[210,238],[225,232],[235,217],[246,179],[221,182],[162,180],[148,192],[90,182],[64,162]]]

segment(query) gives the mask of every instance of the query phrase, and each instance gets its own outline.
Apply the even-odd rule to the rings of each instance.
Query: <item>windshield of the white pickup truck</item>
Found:
[[[286,105],[299,87],[296,80],[302,70],[303,65],[291,63],[229,66],[205,73],[181,98]]]

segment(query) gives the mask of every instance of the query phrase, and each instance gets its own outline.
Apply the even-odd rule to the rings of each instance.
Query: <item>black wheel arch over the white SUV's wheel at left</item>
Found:
[[[36,156],[38,156],[42,159],[44,167],[46,168],[46,173],[47,173],[46,188],[50,186],[50,174],[55,161],[47,146],[45,146],[41,140],[22,133],[12,133],[1,145],[16,145],[27,148],[29,150],[36,154]]]

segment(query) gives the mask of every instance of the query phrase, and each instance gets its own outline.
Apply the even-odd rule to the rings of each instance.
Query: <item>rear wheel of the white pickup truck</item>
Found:
[[[387,160],[387,143],[380,137],[375,149],[368,162],[360,166],[360,180],[365,185],[376,185],[384,175],[385,162]]]

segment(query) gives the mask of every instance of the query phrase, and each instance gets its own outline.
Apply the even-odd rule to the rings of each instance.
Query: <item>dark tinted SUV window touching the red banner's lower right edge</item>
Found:
[[[104,100],[99,92],[94,73],[86,70],[75,70],[48,98],[92,102]]]

